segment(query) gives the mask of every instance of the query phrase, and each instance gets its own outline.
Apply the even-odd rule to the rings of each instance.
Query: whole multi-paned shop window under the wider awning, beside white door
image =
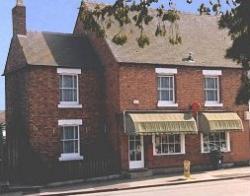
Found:
[[[154,155],[171,155],[185,153],[185,136],[183,134],[164,134],[153,136]]]

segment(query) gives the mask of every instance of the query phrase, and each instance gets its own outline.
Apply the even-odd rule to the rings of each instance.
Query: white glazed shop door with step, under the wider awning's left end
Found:
[[[129,136],[129,169],[144,168],[143,136]]]

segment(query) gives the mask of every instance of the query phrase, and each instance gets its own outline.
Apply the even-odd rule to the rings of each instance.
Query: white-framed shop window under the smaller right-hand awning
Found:
[[[209,153],[217,149],[221,150],[222,152],[230,151],[229,132],[201,134],[201,148],[202,153]]]

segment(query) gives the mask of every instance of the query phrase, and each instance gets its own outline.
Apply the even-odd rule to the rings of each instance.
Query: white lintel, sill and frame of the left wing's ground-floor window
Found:
[[[59,157],[59,161],[83,160],[83,156],[80,155],[80,125],[82,125],[81,119],[58,120],[58,126],[60,128],[73,127],[73,126],[78,127],[78,152],[77,153],[61,153]],[[60,140],[60,142],[62,142],[62,140]]]

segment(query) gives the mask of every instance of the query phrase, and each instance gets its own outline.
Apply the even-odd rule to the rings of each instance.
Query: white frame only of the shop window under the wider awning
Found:
[[[177,134],[165,134],[165,135],[177,135]],[[185,134],[180,133],[180,145],[181,145],[181,152],[179,153],[157,153],[156,152],[156,144],[155,144],[155,136],[162,136],[162,135],[152,135],[152,143],[153,143],[153,155],[154,156],[171,156],[171,155],[183,155],[186,153],[185,149]]]

